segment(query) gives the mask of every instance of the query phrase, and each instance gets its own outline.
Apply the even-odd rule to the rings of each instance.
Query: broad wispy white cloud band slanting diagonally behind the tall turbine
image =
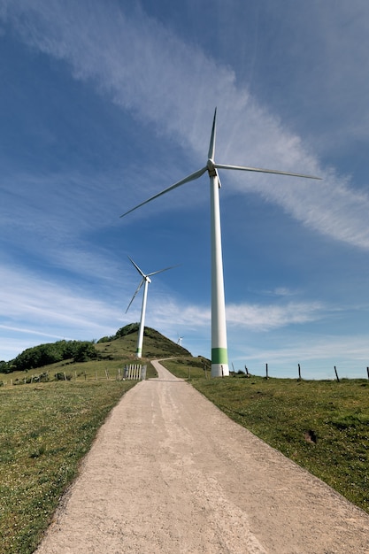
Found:
[[[227,173],[227,183],[240,192],[258,192],[319,233],[369,248],[369,196],[353,189],[348,178],[322,167],[301,137],[283,127],[247,88],[237,86],[229,68],[181,42],[142,10],[124,12],[112,0],[104,3],[104,9],[93,4],[91,9],[87,3],[58,0],[48,4],[3,0],[0,15],[29,46],[65,60],[75,79],[93,82],[137,119],[155,123],[159,132],[189,146],[196,158],[198,152],[205,156],[209,106],[218,104],[219,152],[226,158],[219,154],[219,161],[269,165],[324,178],[292,182]]]

